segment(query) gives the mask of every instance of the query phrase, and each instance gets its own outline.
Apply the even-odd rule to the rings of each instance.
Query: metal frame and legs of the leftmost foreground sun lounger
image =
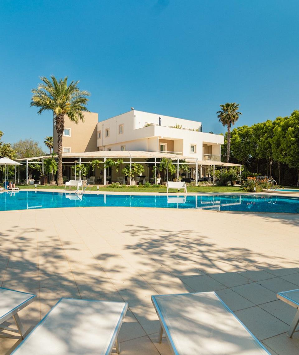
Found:
[[[1,316],[0,315],[0,329],[4,329],[13,333],[20,333],[21,338],[24,339],[24,334],[25,330],[23,327],[23,324],[21,322],[21,319],[18,315],[18,312],[21,311],[23,308],[27,307],[29,304],[31,304],[37,297],[37,295],[33,295],[32,293],[27,293],[27,292],[21,292],[21,291],[16,291],[16,290],[11,290],[5,287],[1,287],[1,289],[8,290],[8,291],[13,291],[13,292],[19,292],[22,294],[27,294],[30,295],[31,297],[28,298],[28,300],[22,302],[21,304],[17,305],[16,307],[12,308],[9,312],[7,312],[5,315]],[[9,320],[9,318],[13,318],[13,320],[16,322],[17,329],[11,328],[11,327],[4,327],[2,323],[6,322]]]

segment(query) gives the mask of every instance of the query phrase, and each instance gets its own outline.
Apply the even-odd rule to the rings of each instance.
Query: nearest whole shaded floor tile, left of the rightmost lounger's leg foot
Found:
[[[257,339],[263,340],[284,333],[289,326],[262,310],[258,306],[234,312],[239,320],[247,327]]]

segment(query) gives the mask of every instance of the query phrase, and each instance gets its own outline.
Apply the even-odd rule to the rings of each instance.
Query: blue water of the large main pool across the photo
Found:
[[[0,193],[0,211],[55,207],[163,207],[299,213],[299,197],[266,195],[108,195],[20,191]]]

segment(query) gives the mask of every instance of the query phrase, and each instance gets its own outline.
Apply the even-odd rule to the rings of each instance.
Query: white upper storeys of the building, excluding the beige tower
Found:
[[[131,110],[98,122],[99,151],[173,153],[220,160],[222,135],[204,133],[201,122]]]

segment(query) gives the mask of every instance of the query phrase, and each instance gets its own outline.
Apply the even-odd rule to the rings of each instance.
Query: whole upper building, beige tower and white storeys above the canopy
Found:
[[[224,137],[202,132],[201,122],[134,109],[100,122],[97,113],[84,115],[78,124],[66,117],[62,152],[144,151],[220,161]],[[53,137],[56,152],[55,118]]]

